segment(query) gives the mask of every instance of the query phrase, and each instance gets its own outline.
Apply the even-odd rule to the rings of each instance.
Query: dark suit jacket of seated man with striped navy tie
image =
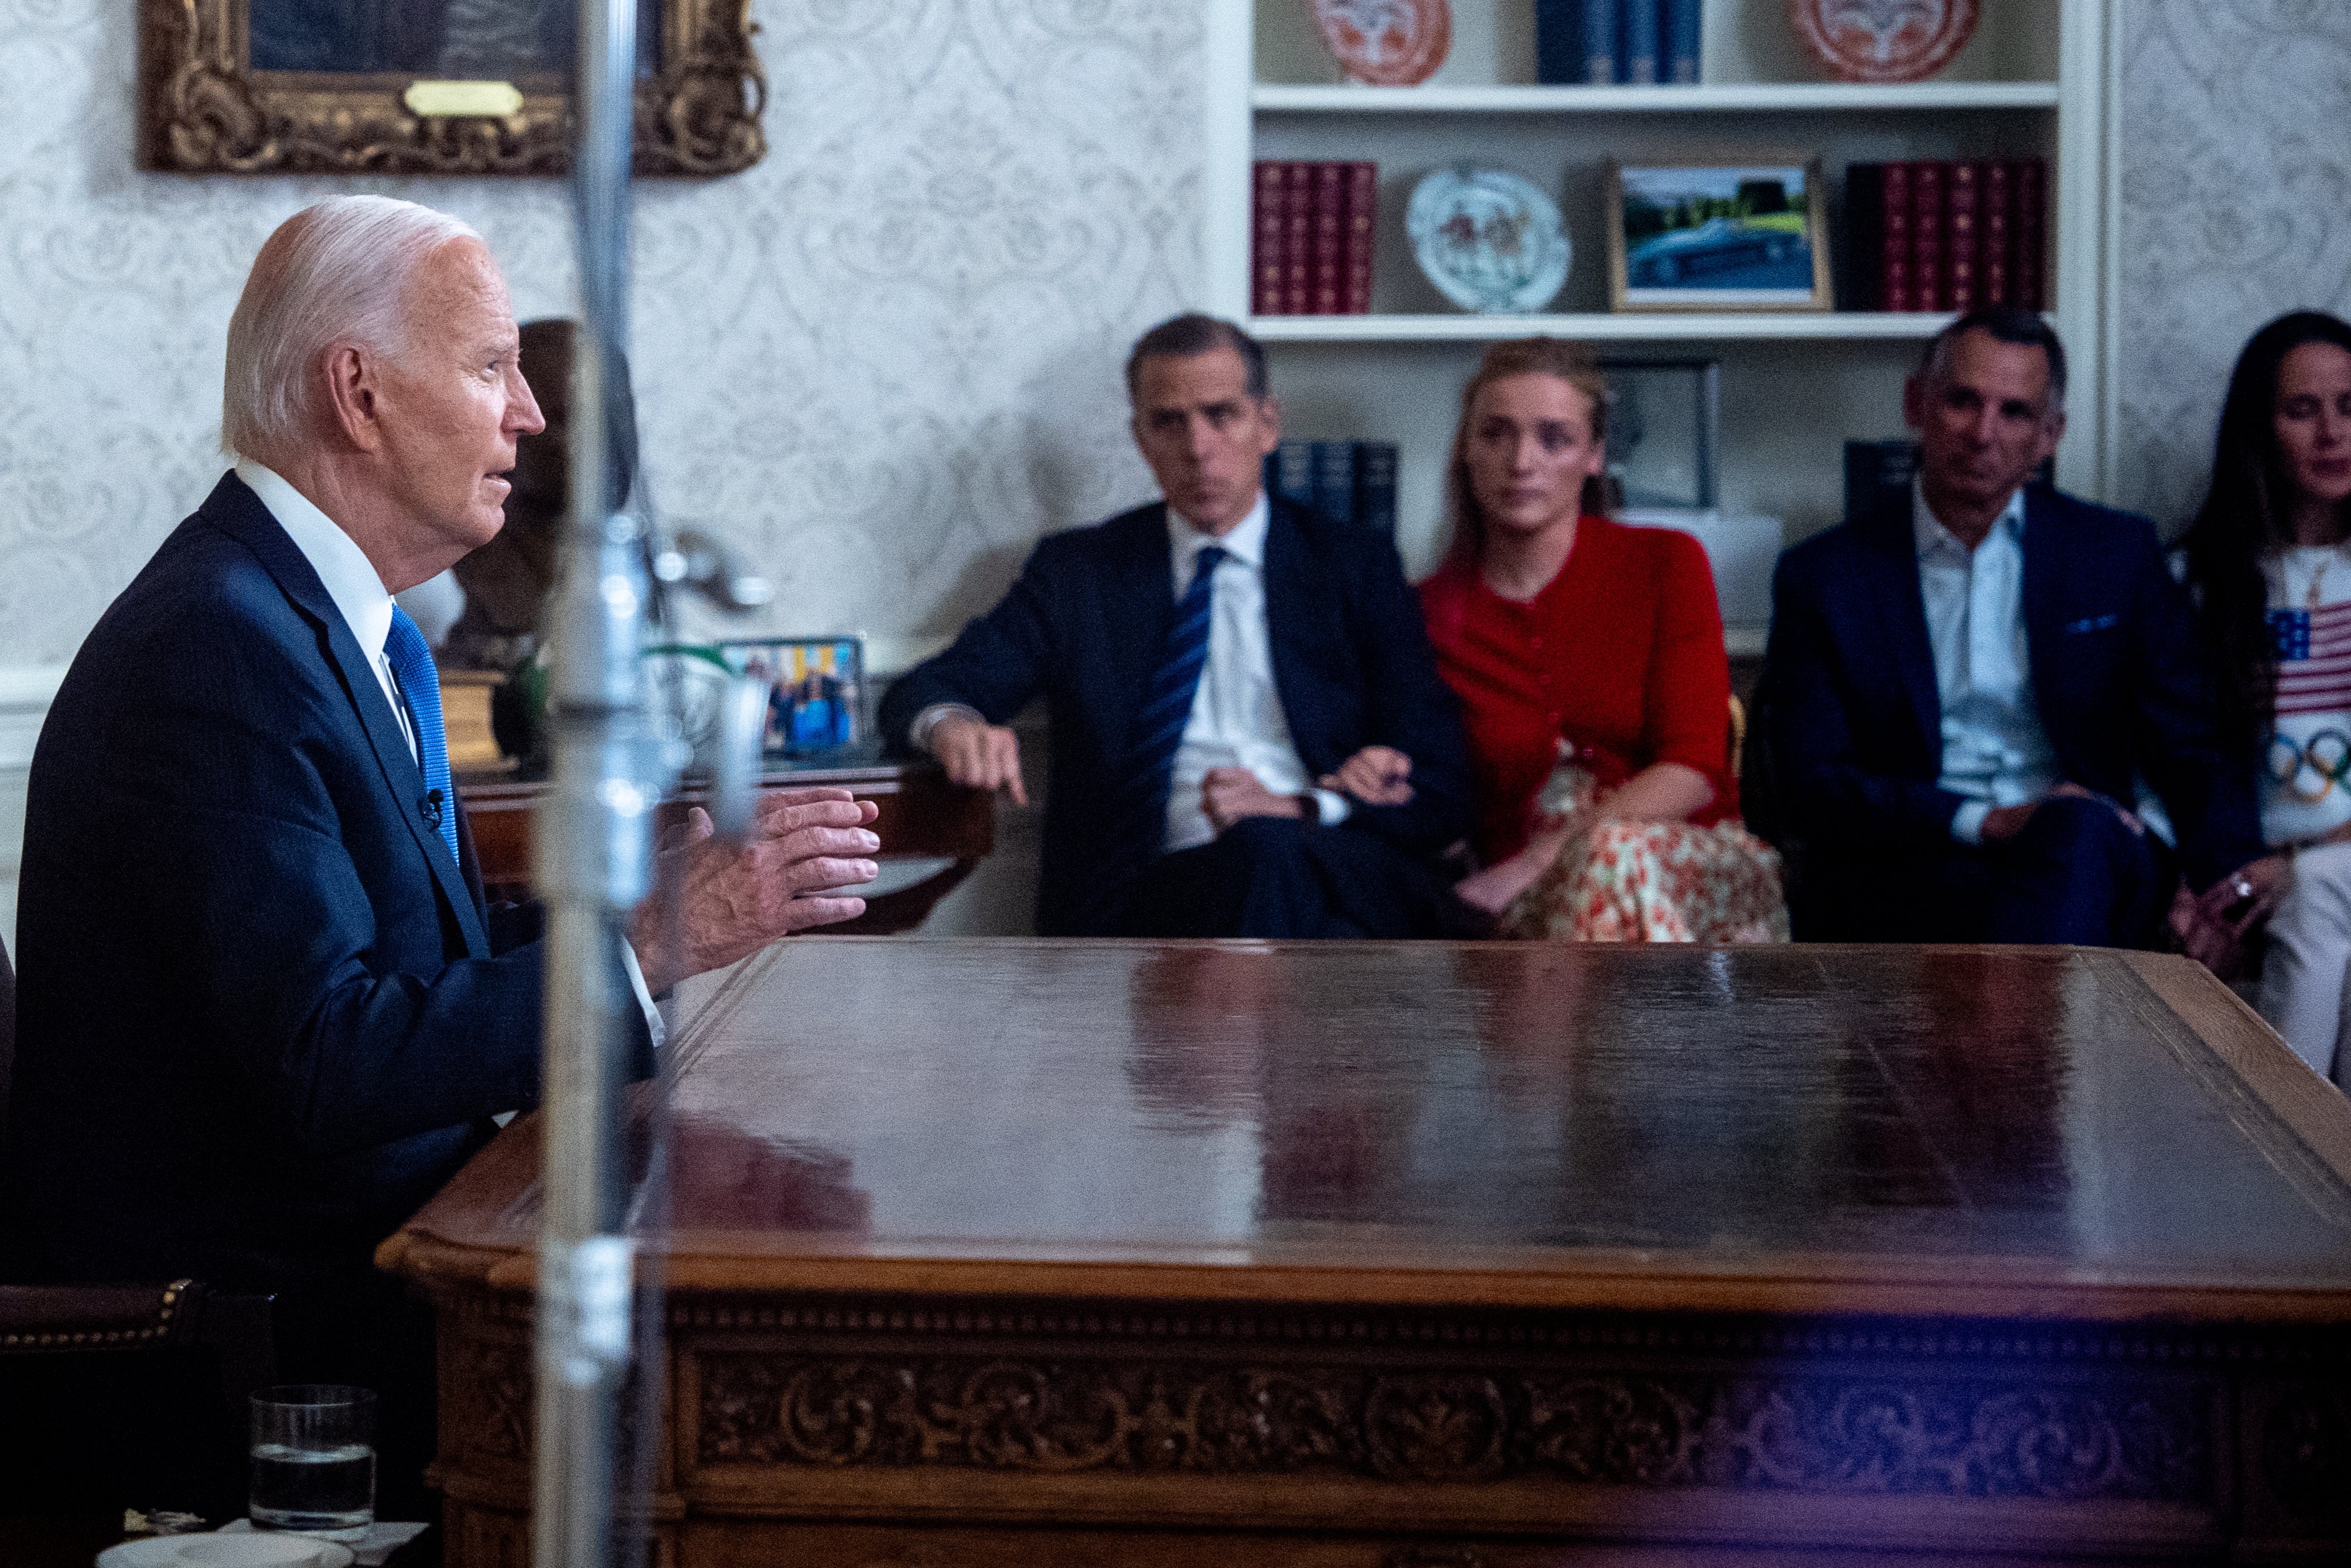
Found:
[[[1105,933],[1124,896],[1117,867],[1140,867],[1157,851],[1117,839],[1117,762],[1173,621],[1166,505],[1143,505],[1039,541],[1004,602],[882,703],[882,733],[905,743],[933,703],[1009,724],[1044,693],[1053,729],[1037,889],[1044,936]],[[1373,743],[1413,759],[1411,804],[1357,804],[1340,832],[1375,832],[1411,853],[1458,842],[1469,830],[1460,708],[1436,675],[1394,543],[1277,498],[1265,531],[1265,630],[1310,776]]]

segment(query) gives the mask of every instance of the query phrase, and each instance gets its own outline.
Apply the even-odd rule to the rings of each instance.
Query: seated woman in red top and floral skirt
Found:
[[[1606,414],[1556,339],[1495,343],[1462,393],[1453,552],[1420,585],[1479,788],[1458,893],[1505,936],[1784,940],[1780,860],[1737,823],[1707,555],[1592,505]]]

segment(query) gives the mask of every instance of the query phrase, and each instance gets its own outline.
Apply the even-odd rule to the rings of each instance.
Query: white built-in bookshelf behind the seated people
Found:
[[[1251,165],[1375,160],[1380,214],[1371,315],[1267,315],[1286,433],[1385,440],[1401,451],[1399,545],[1415,574],[1441,543],[1444,461],[1460,386],[1483,346],[1582,339],[1610,357],[1723,364],[1721,501],[1780,517],[1796,541],[1841,515],[1846,437],[1902,433],[1902,378],[1947,315],[1608,310],[1603,174],[1610,158],[1817,155],[1836,287],[1843,176],[1855,162],[2045,158],[2050,320],[2074,386],[2059,482],[2097,496],[2111,473],[2114,19],[2118,0],[1984,0],[1970,45],[1933,80],[1820,80],[1784,0],[1707,0],[1697,85],[1535,82],[1533,0],[1451,0],[1453,49],[1420,87],[1340,80],[1307,0],[1208,0],[1206,306],[1248,320]],[[1561,207],[1575,261],[1545,315],[1467,315],[1422,280],[1404,233],[1432,169],[1514,169]]]

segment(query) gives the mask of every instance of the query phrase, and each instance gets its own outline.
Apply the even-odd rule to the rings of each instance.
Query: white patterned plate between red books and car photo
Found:
[[[1568,282],[1568,230],[1533,181],[1507,169],[1436,169],[1404,212],[1413,259],[1462,310],[1528,315]]]

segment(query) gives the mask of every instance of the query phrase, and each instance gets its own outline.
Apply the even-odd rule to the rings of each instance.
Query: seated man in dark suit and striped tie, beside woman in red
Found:
[[[882,733],[1025,799],[1006,724],[1044,693],[1044,936],[1465,931],[1432,867],[1469,825],[1460,717],[1394,543],[1267,498],[1281,416],[1239,327],[1154,327],[1126,386],[1166,501],[1041,541]],[[1408,799],[1333,788],[1375,745],[1413,759]]]

